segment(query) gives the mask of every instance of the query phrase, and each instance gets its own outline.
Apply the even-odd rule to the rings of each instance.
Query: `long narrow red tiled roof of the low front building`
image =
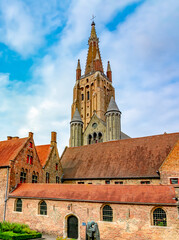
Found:
[[[69,201],[175,204],[171,185],[82,185],[20,184],[9,195],[16,198],[56,199]]]

